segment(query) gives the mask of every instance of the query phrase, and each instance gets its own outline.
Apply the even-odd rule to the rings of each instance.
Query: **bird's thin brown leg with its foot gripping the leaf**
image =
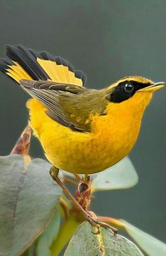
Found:
[[[56,183],[58,183],[58,185],[60,185],[60,187],[63,189],[63,191],[68,195],[68,197],[70,197],[72,202],[75,203],[75,206],[79,209],[80,212],[82,212],[82,214],[84,215],[85,219],[87,219],[92,226],[95,226],[97,228],[97,233],[100,233],[100,226],[104,226],[105,228],[110,228],[114,233],[117,233],[117,229],[116,228],[113,228],[109,224],[106,224],[106,223],[104,223],[102,221],[99,221],[96,218],[96,216],[94,217],[94,214],[92,214],[91,212],[87,212],[79,204],[79,202],[77,202],[75,197],[73,197],[72,194],[68,191],[68,189],[65,188],[65,185],[63,184],[63,182],[60,181],[60,178],[58,178],[58,173],[59,173],[59,169],[56,168],[56,166],[51,166],[50,175],[53,178],[53,180],[56,181]]]

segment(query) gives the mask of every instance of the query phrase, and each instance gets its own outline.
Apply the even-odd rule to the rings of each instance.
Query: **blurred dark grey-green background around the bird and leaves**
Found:
[[[0,1],[0,56],[23,44],[63,56],[102,88],[125,75],[166,81],[166,1]],[[8,154],[27,124],[28,95],[0,74],[0,154]],[[121,218],[166,242],[166,90],[143,117],[130,158],[139,184],[96,193],[92,209]],[[44,157],[33,138],[32,157]]]

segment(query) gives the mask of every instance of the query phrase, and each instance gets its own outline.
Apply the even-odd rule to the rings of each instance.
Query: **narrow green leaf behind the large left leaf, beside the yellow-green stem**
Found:
[[[55,216],[51,220],[49,226],[46,228],[44,233],[38,238],[36,253],[37,256],[50,256],[51,250],[49,249],[53,239],[58,235],[60,226],[60,214],[56,211]]]

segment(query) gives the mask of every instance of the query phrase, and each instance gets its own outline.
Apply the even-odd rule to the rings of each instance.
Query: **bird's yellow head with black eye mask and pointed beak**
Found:
[[[107,87],[106,94],[111,109],[124,109],[128,113],[143,114],[153,92],[163,86],[164,82],[154,83],[147,78],[128,76]]]

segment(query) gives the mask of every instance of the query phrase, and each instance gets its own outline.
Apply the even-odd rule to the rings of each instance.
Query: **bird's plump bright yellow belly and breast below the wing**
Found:
[[[79,133],[46,116],[36,99],[27,102],[34,135],[47,159],[58,169],[71,173],[95,173],[113,166],[129,154],[139,134],[141,118],[134,120],[122,109],[106,116],[94,116],[91,133]],[[139,120],[140,119],[140,120]]]

